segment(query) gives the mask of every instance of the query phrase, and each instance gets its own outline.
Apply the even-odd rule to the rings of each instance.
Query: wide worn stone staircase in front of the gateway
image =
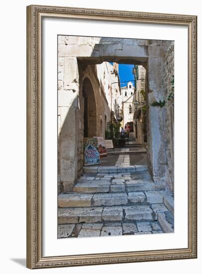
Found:
[[[174,231],[174,198],[146,166],[83,168],[71,193],[58,197],[58,238]]]

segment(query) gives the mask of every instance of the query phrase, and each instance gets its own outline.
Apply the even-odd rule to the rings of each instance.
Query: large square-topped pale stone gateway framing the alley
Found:
[[[81,75],[85,68],[88,65],[100,64],[104,61],[140,64],[147,71],[148,168],[155,183],[165,182],[172,188],[173,180],[171,178],[173,176],[168,172],[173,173],[173,152],[171,149],[173,135],[168,130],[170,127],[164,126],[171,121],[169,105],[159,108],[152,107],[151,104],[167,98],[170,76],[174,74],[173,42],[105,37],[79,37],[78,39],[77,36],[61,35],[58,49],[60,71],[63,73],[63,79],[59,84],[61,84],[61,93],[68,94],[67,101],[62,107],[68,109],[69,105],[71,106],[73,115],[71,123],[75,122],[75,125],[72,125],[74,138],[69,137],[72,142],[70,151],[63,149],[59,151],[61,163],[70,166],[73,175],[69,176],[69,173],[65,174],[62,170],[61,177],[65,178],[65,181],[71,181],[70,185],[72,185],[78,170],[80,170],[78,162],[82,161],[82,135],[80,132],[83,132],[81,129],[83,124],[80,121],[83,119],[83,112],[79,106],[79,91],[81,90]],[[166,65],[168,62],[171,64],[169,67]],[[62,119],[66,112],[61,113]],[[65,123],[64,125],[66,126]],[[67,135],[65,126],[63,126],[62,132]],[[97,122],[97,132],[99,132],[98,128],[99,122]],[[75,164],[69,165],[69,157],[74,159]]]

